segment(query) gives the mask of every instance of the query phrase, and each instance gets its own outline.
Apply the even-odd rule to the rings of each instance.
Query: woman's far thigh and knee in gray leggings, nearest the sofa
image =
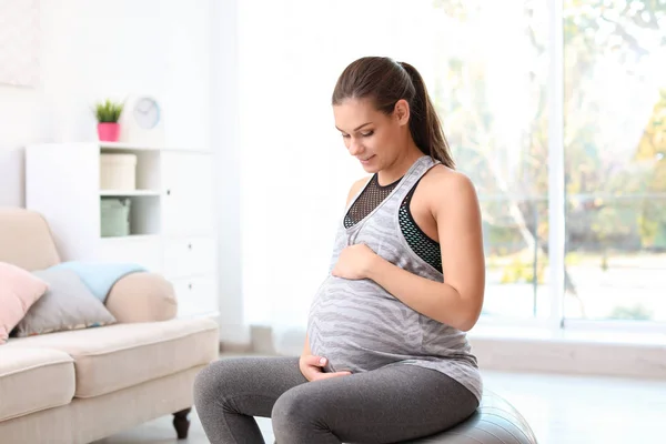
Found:
[[[297,357],[223,357],[200,372],[194,395],[229,413],[269,417],[284,392],[305,382]]]

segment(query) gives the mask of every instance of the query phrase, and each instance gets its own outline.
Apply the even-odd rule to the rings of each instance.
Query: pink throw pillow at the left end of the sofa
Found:
[[[44,281],[29,271],[0,262],[0,345],[48,289]]]

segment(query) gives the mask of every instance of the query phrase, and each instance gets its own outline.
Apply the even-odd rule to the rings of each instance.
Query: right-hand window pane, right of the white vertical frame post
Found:
[[[666,2],[564,7],[565,316],[666,321]]]

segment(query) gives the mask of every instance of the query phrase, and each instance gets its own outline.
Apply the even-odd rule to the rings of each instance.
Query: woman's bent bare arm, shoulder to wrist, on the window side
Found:
[[[481,314],[485,289],[478,200],[470,179],[460,173],[437,174],[431,185],[428,201],[437,223],[444,282],[413,274],[377,254],[364,274],[413,310],[468,331]]]

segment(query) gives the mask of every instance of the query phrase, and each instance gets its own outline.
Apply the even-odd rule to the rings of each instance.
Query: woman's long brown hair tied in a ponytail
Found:
[[[410,132],[416,147],[448,168],[455,168],[442,123],[423,78],[414,67],[385,57],[364,57],[342,72],[333,90],[333,105],[344,99],[371,99],[379,111],[391,114],[395,103],[410,103]]]

